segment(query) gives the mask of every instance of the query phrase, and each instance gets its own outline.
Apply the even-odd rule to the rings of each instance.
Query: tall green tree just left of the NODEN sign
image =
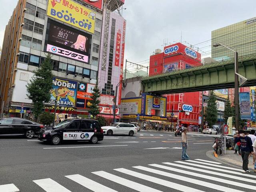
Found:
[[[33,114],[37,120],[38,116],[43,112],[44,102],[48,102],[51,98],[50,90],[52,89],[53,74],[50,54],[47,55],[44,62],[33,73],[34,75],[26,85],[26,88],[27,97],[32,100],[34,105]]]

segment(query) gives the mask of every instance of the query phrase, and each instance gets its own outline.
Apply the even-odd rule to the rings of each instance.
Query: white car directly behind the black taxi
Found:
[[[137,127],[133,124],[129,123],[114,123],[110,126],[103,126],[103,133],[111,136],[113,134],[128,134],[129,136],[133,136],[137,133]]]

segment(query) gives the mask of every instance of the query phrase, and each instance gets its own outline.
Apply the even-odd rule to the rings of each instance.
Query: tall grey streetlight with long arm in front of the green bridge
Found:
[[[239,113],[239,84],[238,84],[238,76],[240,76],[240,78],[244,79],[245,81],[242,83],[244,84],[246,82],[246,79],[245,77],[243,77],[242,75],[238,74],[238,52],[236,51],[235,48],[231,47],[231,46],[227,46],[227,45],[224,45],[222,43],[216,43],[213,45],[214,47],[218,47],[218,46],[223,46],[225,48],[227,48],[228,50],[234,52],[234,58],[235,58],[235,115],[236,115],[236,123],[235,123],[235,126],[236,126],[236,130],[238,130],[239,128],[239,119],[238,119],[238,113]],[[240,84],[241,85],[241,84]]]

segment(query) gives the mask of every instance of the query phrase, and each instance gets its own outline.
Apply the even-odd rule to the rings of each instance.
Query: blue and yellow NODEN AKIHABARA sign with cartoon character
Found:
[[[74,107],[76,100],[77,82],[67,79],[54,77],[52,80],[51,98],[48,104],[55,104],[57,100],[58,106]]]

